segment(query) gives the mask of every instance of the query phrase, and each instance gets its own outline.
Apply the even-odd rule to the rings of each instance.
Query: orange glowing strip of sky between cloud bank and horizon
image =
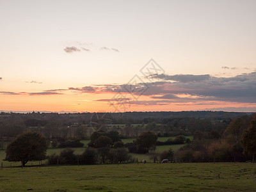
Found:
[[[0,95],[1,110],[5,111],[52,111],[52,112],[125,112],[125,111],[196,111],[214,108],[242,108],[256,107],[256,104],[239,102],[186,102],[179,103],[173,100],[170,104],[147,104],[154,101],[146,96],[141,97],[145,104],[109,105],[108,101],[96,101],[99,99],[111,99],[115,94],[110,93],[65,93],[62,95]],[[156,100],[156,99],[155,99]],[[140,100],[139,100],[140,101]],[[157,100],[156,100],[157,101]],[[209,104],[207,104],[209,103]],[[214,105],[212,104],[214,103]],[[115,110],[118,109],[118,110]],[[246,112],[246,111],[245,111]]]

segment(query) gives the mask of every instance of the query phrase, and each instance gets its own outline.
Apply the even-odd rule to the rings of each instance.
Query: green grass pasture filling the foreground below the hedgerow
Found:
[[[256,164],[108,164],[0,170],[0,191],[255,191]]]

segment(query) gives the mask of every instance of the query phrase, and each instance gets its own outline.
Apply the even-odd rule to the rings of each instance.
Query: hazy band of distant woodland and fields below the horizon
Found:
[[[24,131],[42,133],[47,139],[90,139],[93,132],[118,131],[122,138],[136,138],[143,131],[157,136],[193,135],[195,131],[223,134],[232,119],[252,113],[224,111],[125,112],[125,113],[0,113],[0,137],[10,141]],[[248,122],[250,123],[250,122]]]

